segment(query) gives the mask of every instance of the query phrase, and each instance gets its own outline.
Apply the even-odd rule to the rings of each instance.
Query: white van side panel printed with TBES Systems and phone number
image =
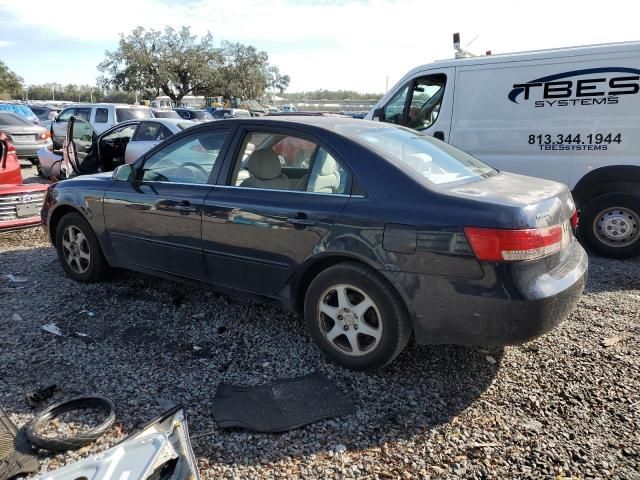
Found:
[[[573,188],[640,166],[640,49],[456,70],[449,143],[495,168]]]

